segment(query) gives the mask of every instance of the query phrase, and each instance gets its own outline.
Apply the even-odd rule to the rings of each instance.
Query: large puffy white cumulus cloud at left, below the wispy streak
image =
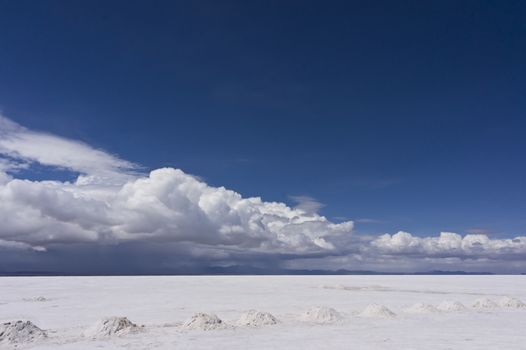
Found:
[[[10,179],[0,185],[0,220],[0,238],[43,246],[185,241],[298,253],[334,249],[330,240],[353,226],[283,203],[243,198],[172,168],[122,187]]]

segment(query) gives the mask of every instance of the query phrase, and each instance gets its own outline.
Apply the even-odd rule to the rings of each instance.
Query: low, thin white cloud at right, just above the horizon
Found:
[[[442,232],[418,237],[408,232],[347,242],[337,255],[305,257],[285,262],[292,269],[348,269],[380,272],[526,271],[526,237],[492,239],[487,235]]]

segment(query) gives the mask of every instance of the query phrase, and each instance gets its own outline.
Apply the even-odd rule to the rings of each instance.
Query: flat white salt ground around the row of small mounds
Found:
[[[526,309],[470,307],[478,298],[502,296],[526,302],[526,276],[2,277],[0,322],[29,320],[47,331],[47,340],[17,349],[526,349]],[[403,311],[443,300],[468,310]],[[371,303],[396,317],[359,316]],[[332,307],[344,319],[317,324],[298,318],[312,306]],[[281,322],[181,328],[197,312],[233,324],[248,309],[270,312]],[[82,335],[106,316],[126,316],[145,327],[108,339]]]

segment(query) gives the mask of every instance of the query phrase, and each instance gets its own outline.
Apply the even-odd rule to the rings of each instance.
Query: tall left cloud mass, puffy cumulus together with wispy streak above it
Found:
[[[0,128],[0,239],[9,242],[31,247],[184,242],[201,250],[316,254],[336,250],[332,241],[353,228],[351,221],[331,223],[305,208],[243,198],[179,169],[137,174],[133,163],[6,118],[0,119]],[[17,179],[8,172],[20,162],[80,176],[74,183]],[[92,178],[98,181],[86,181]]]

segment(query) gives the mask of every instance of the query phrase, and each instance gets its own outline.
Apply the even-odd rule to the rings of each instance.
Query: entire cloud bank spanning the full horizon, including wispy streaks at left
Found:
[[[73,182],[17,178],[18,171],[33,164],[78,177]],[[281,263],[302,267],[301,262],[308,261],[313,265],[305,266],[356,270],[381,269],[382,262],[401,258],[462,262],[526,257],[526,237],[417,237],[398,232],[355,241],[352,221],[331,222],[318,214],[322,204],[315,199],[291,198],[297,206],[244,198],[179,169],[143,173],[137,164],[85,143],[29,130],[0,116],[4,266],[48,264],[60,269],[75,263],[77,256],[89,267],[101,263],[93,259],[101,252],[107,253],[101,258],[108,259],[104,264],[167,268]],[[28,261],[33,265],[25,264]]]

